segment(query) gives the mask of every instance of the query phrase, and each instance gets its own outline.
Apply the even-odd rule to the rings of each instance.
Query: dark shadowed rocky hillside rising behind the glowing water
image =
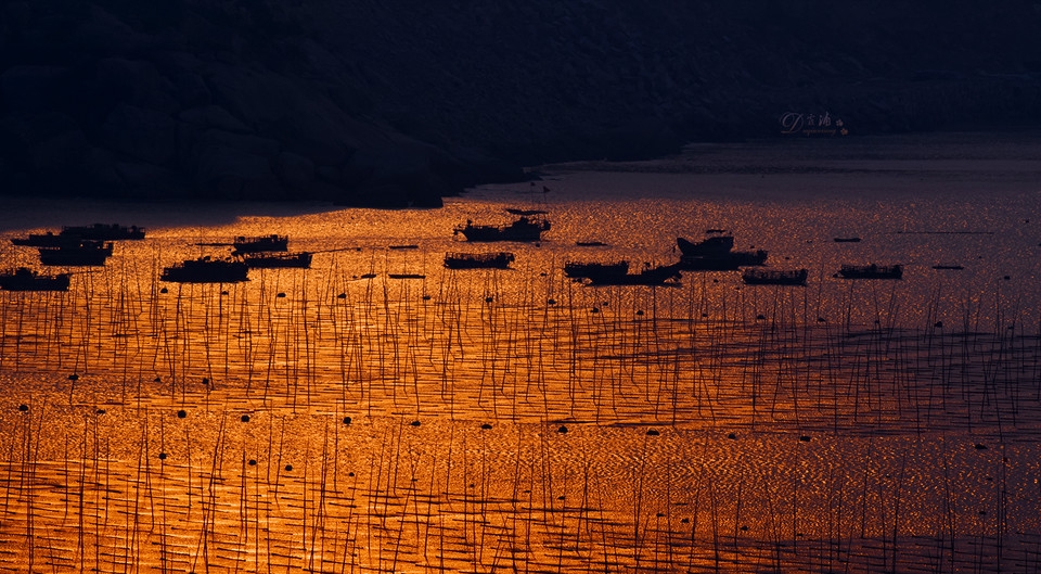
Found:
[[[9,1],[4,193],[436,206],[519,166],[1041,117],[1010,0]],[[928,33],[928,34],[926,34]]]

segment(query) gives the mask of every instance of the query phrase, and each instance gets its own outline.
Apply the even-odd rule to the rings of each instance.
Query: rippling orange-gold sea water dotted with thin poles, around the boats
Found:
[[[149,233],[67,293],[0,292],[0,570],[1038,572],[1034,141],[693,146],[436,211],[4,200],[3,267],[39,267],[28,231]],[[507,207],[553,228],[452,233]],[[562,272],[709,228],[807,286]],[[158,281],[274,232],[311,268]]]

